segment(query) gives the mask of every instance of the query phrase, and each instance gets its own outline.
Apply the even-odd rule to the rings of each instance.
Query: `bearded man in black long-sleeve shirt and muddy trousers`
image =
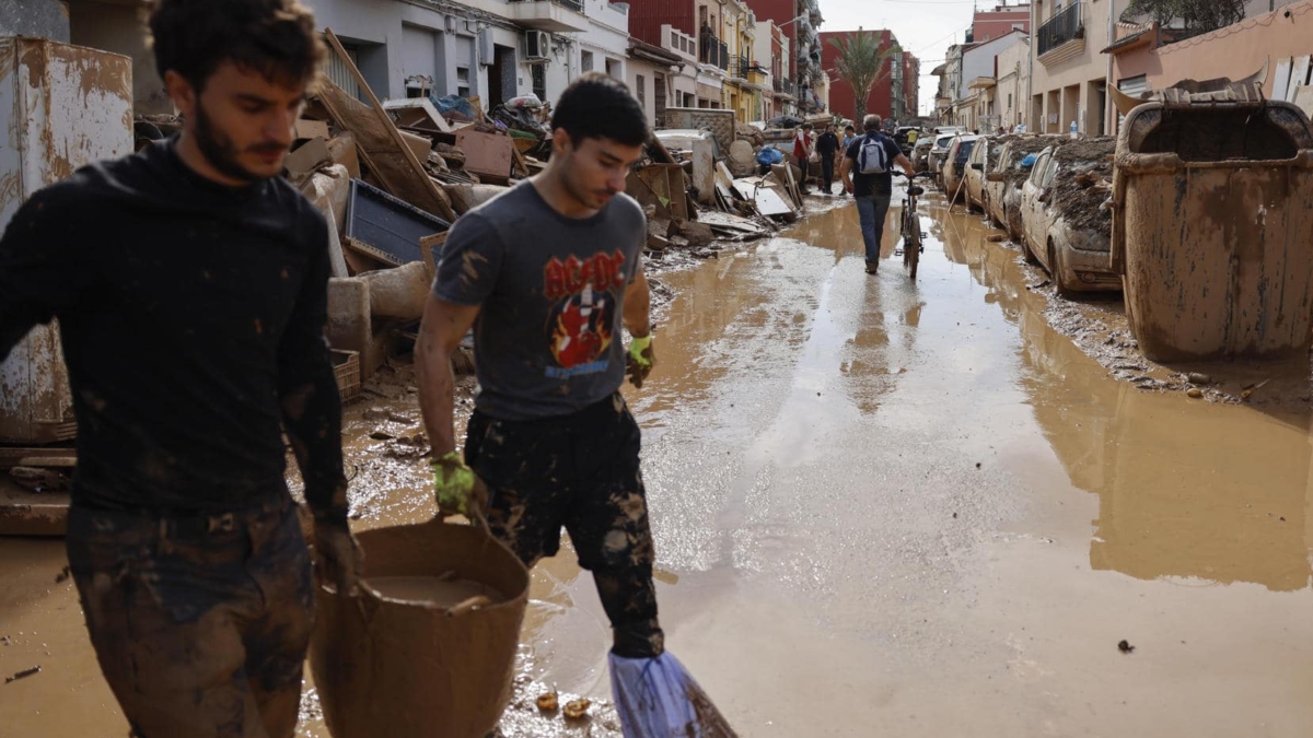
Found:
[[[295,0],[159,0],[183,131],[34,194],[0,239],[0,357],[59,319],[77,416],[68,562],[134,735],[290,738],[311,561],[348,591],[330,227],[278,175],[323,56]]]

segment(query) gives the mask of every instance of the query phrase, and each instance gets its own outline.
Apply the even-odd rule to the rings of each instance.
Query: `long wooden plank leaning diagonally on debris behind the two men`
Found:
[[[383,181],[387,190],[393,197],[399,197],[416,207],[421,207],[439,215],[449,222],[456,221],[456,213],[452,206],[445,202],[441,192],[439,192],[437,185],[428,179],[428,172],[424,171],[424,165],[419,159],[415,158],[415,152],[411,151],[406,141],[402,139],[402,134],[397,130],[393,123],[391,116],[383,109],[383,105],[374,96],[374,91],[370,89],[369,83],[365,81],[365,76],[360,74],[356,64],[347,55],[347,50],[343,49],[341,42],[337,41],[337,35],[332,29],[324,29],[324,38],[328,39],[328,45],[332,47],[334,53],[341,59],[343,64],[351,71],[352,76],[356,77],[356,83],[360,84],[360,89],[369,98],[370,106],[373,106],[374,119],[377,125],[369,126],[365,121],[360,119],[358,113],[353,113],[352,106],[347,104],[357,102],[347,96],[337,85],[328,80],[324,80],[324,92],[320,93],[319,98],[328,108],[328,112],[336,118],[337,125],[348,127],[353,134],[356,134],[356,143],[364,148],[369,150],[368,159],[374,160],[381,168],[372,167],[374,176]],[[334,95],[336,92],[336,95]],[[358,102],[357,102],[358,105]],[[343,117],[348,118],[347,121]],[[364,129],[364,134],[372,137],[376,146],[366,144],[362,138],[362,131],[356,130],[356,126],[349,125],[355,122],[356,126]],[[378,133],[383,131],[379,137]],[[377,141],[382,138],[383,141]],[[385,146],[378,146],[387,139],[391,141],[391,150]]]

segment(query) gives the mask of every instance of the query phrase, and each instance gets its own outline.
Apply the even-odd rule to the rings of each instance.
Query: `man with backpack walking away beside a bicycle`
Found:
[[[880,269],[880,242],[893,198],[890,167],[898,164],[909,177],[913,176],[913,167],[894,139],[880,131],[880,116],[867,116],[861,127],[867,133],[848,146],[839,172],[843,175],[843,189],[857,204],[861,240],[867,247],[867,273],[874,274]]]

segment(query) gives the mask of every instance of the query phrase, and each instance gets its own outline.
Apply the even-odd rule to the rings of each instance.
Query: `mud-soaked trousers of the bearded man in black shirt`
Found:
[[[291,738],[314,592],[286,492],[214,516],[75,506],[67,546],[133,735]]]

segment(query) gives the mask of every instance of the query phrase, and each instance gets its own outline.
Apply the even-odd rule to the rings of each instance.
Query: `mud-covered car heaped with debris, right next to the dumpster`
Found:
[[[1111,268],[1112,138],[1079,139],[1040,152],[1022,188],[1023,248],[1060,294],[1117,292]]]

